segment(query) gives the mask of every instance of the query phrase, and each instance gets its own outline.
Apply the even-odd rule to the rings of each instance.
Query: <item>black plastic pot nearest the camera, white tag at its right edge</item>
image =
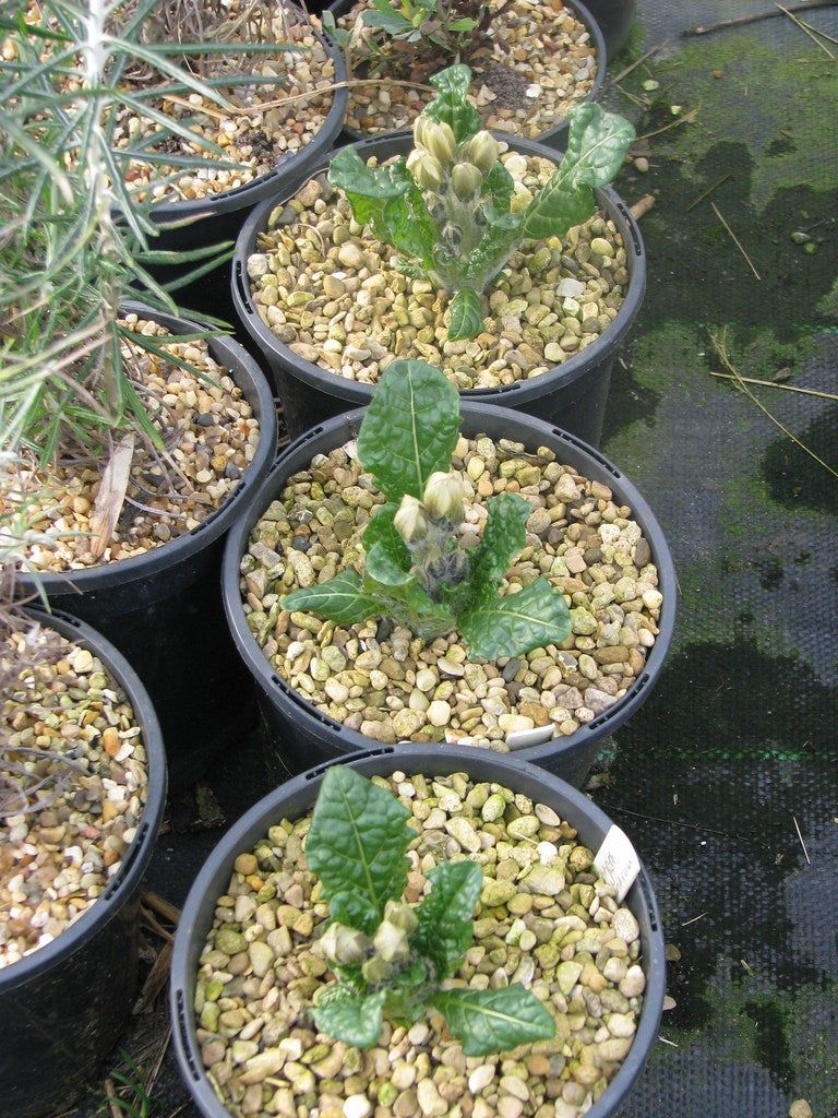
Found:
[[[522,765],[497,754],[445,746],[387,746],[371,754],[347,757],[345,764],[368,777],[389,776],[396,770],[427,776],[465,771],[473,780],[497,781],[537,803],[547,804],[575,827],[581,841],[594,851],[611,827],[610,819],[574,788],[532,765]],[[187,899],[174,940],[170,1006],[181,1076],[203,1118],[229,1118],[229,1111],[219,1102],[203,1071],[193,1010],[199,958],[212,926],[217,900],[228,888],[237,855],[253,850],[258,840],[267,834],[268,827],[279,819],[295,819],[304,815],[313,806],[327,768],[324,765],[291,780],[240,818],[216,846]],[[646,992],[628,1057],[606,1093],[587,1112],[587,1118],[608,1118],[617,1114],[657,1040],[664,1005],[664,932],[645,869],[640,869],[623,903],[640,925]]]

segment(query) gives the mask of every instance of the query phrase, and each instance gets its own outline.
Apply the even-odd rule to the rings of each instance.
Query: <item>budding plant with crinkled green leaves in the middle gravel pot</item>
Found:
[[[283,608],[342,625],[390,617],[426,641],[456,629],[473,657],[516,656],[570,634],[562,594],[543,577],[517,594],[497,589],[524,549],[532,506],[517,493],[488,502],[483,539],[459,544],[461,477],[450,472],[459,437],[459,394],[423,361],[393,361],[358,436],[358,455],[387,496],[363,534],[363,575],[346,568]]]

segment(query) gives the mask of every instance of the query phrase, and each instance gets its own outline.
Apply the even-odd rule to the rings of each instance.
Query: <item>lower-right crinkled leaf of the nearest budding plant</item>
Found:
[[[465,1055],[508,1052],[555,1035],[551,1015],[520,983],[499,989],[441,991],[430,1003],[445,1017]]]

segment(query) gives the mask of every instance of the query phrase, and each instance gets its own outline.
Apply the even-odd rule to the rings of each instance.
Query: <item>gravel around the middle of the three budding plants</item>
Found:
[[[284,610],[289,590],[362,559],[363,529],[384,499],[354,455],[349,444],[293,475],[241,560],[248,626],[301,695],[378,741],[499,751],[574,733],[620,700],[658,632],[658,572],[631,510],[545,447],[460,437],[451,465],[466,485],[466,547],[478,542],[494,494],[520,493],[532,504],[526,547],[501,593],[544,575],[571,607],[572,634],[561,647],[469,662],[456,633],[426,644],[391,622],[344,627]]]

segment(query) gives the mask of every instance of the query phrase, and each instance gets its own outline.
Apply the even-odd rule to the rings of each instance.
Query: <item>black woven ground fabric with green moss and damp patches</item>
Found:
[[[838,72],[783,16],[680,37],[756,10],[773,6],[639,0],[610,68],[666,44],[621,83],[642,115],[608,95],[641,135],[666,131],[641,144],[648,173],[627,168],[617,182],[629,201],[656,200],[642,220],[646,303],[615,366],[603,449],[655,509],[682,590],[669,663],[600,756],[591,793],[653,875],[676,1003],[617,1118],[784,1118],[801,1098],[815,1118],[838,1116],[838,480],[711,376],[726,371],[711,339],[726,326],[743,376],[836,390]],[[838,8],[804,18],[838,36]],[[749,387],[838,470],[835,400]],[[264,784],[242,716],[240,748],[207,786],[230,823]],[[200,793],[172,819],[216,814]],[[221,833],[162,835],[150,887],[181,903]],[[136,1021],[120,1043],[147,1069],[165,1012]],[[68,1114],[106,1114],[103,1092]],[[149,1118],[198,1118],[187,1099],[170,1046]]]

